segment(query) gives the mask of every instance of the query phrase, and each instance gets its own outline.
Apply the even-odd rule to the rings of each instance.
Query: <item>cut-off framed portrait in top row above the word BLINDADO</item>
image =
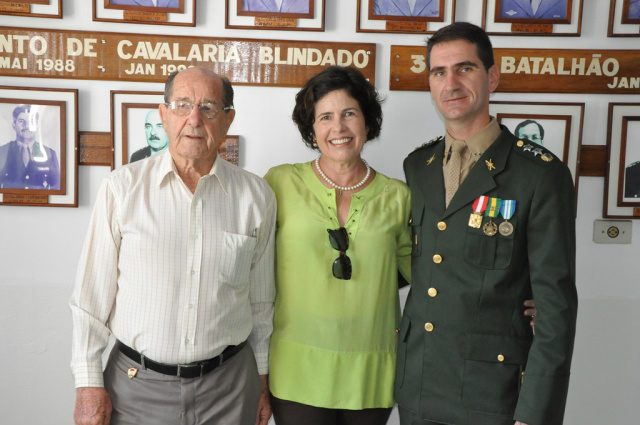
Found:
[[[225,27],[324,31],[325,0],[226,0]]]

